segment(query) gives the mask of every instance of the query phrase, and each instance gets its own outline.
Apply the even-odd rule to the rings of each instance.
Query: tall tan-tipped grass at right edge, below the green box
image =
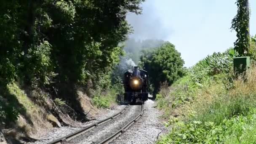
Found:
[[[234,81],[234,87],[219,94],[208,107],[201,109],[197,119],[202,122],[221,123],[224,118],[247,115],[250,108],[256,107],[256,67],[247,72],[247,81],[242,78]],[[202,112],[203,111],[203,112]]]

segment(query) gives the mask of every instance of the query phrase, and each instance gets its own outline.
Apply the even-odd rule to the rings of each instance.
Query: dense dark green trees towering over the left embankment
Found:
[[[67,102],[77,86],[108,88],[131,32],[126,13],[141,13],[143,1],[2,0],[0,87],[16,80]]]

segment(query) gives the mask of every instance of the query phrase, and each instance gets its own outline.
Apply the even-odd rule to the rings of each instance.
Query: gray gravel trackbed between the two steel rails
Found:
[[[99,144],[115,139],[143,114],[143,105],[131,105],[118,118],[61,144]]]

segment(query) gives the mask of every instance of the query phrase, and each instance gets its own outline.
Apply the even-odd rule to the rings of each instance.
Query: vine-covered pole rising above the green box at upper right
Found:
[[[237,40],[235,41],[235,51],[239,53],[239,56],[248,55],[248,49],[250,47],[250,32],[249,32],[249,20],[250,11],[248,6],[248,0],[237,0],[237,15],[232,20],[231,29],[235,29],[237,32]]]

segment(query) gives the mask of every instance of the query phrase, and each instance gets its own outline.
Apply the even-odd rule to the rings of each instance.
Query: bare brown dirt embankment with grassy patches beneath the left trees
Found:
[[[9,107],[17,109],[17,119],[10,123],[1,123],[0,144],[19,144],[40,139],[42,133],[56,128],[71,126],[79,127],[76,120],[77,112],[69,104],[54,101],[48,93],[9,85],[8,96],[0,98]],[[77,91],[77,99],[82,107],[85,121],[93,120],[98,112],[91,104],[91,99],[81,91]],[[10,97],[12,99],[10,99]],[[13,102],[14,101],[14,102]]]

